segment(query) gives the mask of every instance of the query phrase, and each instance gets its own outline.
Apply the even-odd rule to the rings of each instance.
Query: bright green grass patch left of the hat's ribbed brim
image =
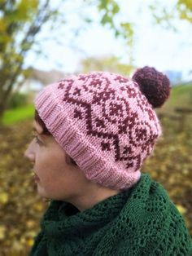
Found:
[[[20,108],[9,109],[5,112],[2,118],[2,124],[4,126],[10,126],[18,121],[23,121],[27,118],[34,116],[34,106],[27,105]]]

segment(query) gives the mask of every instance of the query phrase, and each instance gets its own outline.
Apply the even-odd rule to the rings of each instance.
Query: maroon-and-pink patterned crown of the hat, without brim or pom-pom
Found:
[[[103,151],[115,161],[126,161],[126,168],[142,166],[158,138],[159,126],[136,82],[111,73],[90,73],[77,80],[63,79],[58,89],[65,91],[63,101],[74,106],[73,117],[84,120],[86,135],[99,138]],[[120,139],[123,134],[126,143]]]

